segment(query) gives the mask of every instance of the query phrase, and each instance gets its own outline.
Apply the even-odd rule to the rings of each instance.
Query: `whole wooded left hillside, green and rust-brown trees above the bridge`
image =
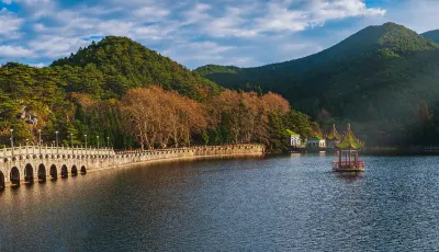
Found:
[[[126,37],[105,37],[45,68],[0,68],[0,145],[108,144],[123,148],[262,142],[288,146],[285,129],[322,135],[271,92],[227,90]],[[98,138],[99,137],[99,138]],[[109,142],[108,142],[109,140]]]

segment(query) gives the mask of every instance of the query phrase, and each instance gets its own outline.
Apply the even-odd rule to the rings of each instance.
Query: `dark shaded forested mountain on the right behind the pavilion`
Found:
[[[439,133],[439,124],[431,126],[439,122],[432,116],[439,112],[438,70],[438,44],[386,23],[305,58],[256,68],[210,65],[195,71],[226,88],[278,92],[320,123],[359,123],[356,128],[370,144],[407,145],[434,142],[431,136]]]

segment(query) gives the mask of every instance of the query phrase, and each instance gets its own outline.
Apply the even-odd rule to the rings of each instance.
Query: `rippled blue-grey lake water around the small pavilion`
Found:
[[[439,157],[173,162],[0,194],[0,251],[438,251]]]

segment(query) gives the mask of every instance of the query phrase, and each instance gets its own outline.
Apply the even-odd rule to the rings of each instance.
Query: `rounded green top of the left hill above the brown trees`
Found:
[[[127,37],[108,36],[68,58],[55,60],[52,67],[56,66],[83,68],[90,76],[87,91],[106,98],[156,83],[196,100],[217,90],[213,82]],[[81,91],[81,87],[71,88]]]

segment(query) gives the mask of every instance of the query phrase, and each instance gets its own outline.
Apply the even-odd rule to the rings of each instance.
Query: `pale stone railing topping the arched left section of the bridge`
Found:
[[[0,158],[12,158],[30,154],[114,154],[111,148],[81,148],[81,147],[53,147],[53,146],[20,146],[0,149]]]

